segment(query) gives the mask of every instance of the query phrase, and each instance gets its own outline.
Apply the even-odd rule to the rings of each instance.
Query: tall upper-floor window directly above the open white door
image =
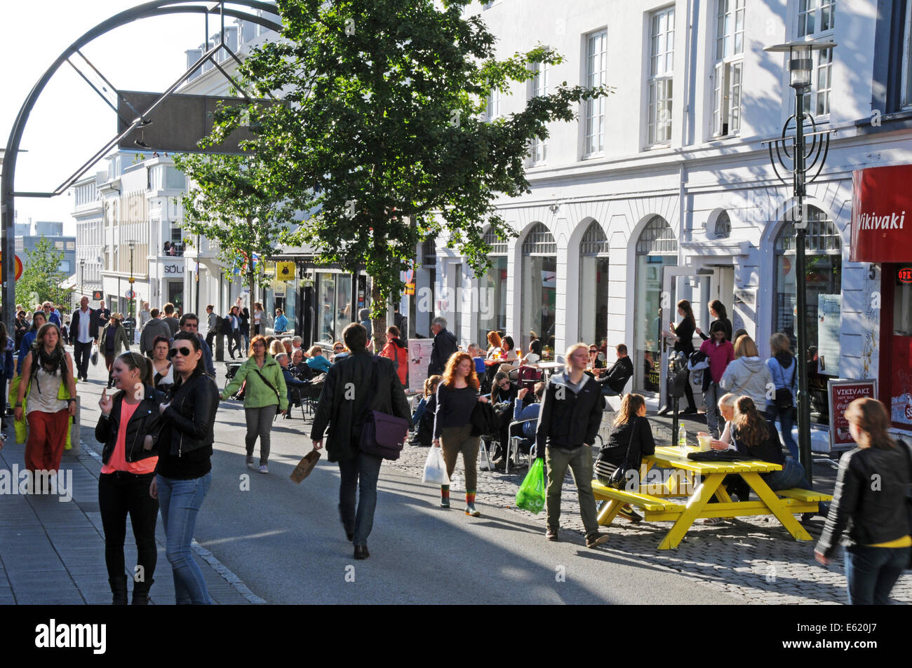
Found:
[[[716,65],[712,75],[712,134],[741,130],[741,72],[744,64],[746,0],[719,0],[716,19]]]

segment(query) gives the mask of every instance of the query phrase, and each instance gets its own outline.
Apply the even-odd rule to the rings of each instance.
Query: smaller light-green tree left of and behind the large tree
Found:
[[[254,152],[177,155],[174,165],[193,181],[182,198],[183,229],[218,242],[226,275],[231,278],[233,269],[239,269],[255,300],[263,263],[253,262],[254,253],[272,252],[295,214],[275,190],[271,167]]]

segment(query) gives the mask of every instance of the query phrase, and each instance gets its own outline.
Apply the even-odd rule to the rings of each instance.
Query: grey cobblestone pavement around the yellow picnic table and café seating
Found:
[[[603,437],[608,415],[603,420]],[[667,444],[670,441],[668,429],[658,420],[653,421],[653,416],[649,417],[653,422],[657,445],[662,445],[662,440]],[[690,428],[689,425],[689,431]],[[427,448],[407,445],[398,461],[386,464],[420,478],[427,456]],[[460,460],[451,486],[452,498],[457,503],[458,493],[465,489],[461,467]],[[815,476],[817,468],[814,467]],[[544,535],[544,510],[536,516],[513,506],[516,490],[527,470],[525,467],[511,468],[509,476],[480,471],[477,501],[534,518],[540,522]],[[827,491],[832,492],[833,474],[831,469],[831,474],[822,477],[820,484],[815,478],[815,488],[825,489],[828,486]],[[561,530],[583,534],[579,502],[569,473],[561,499]],[[800,519],[800,516],[797,517]],[[715,525],[694,524],[677,550],[657,550],[662,536],[671,527],[670,522],[643,521],[634,525],[617,519],[602,530],[611,535],[604,549],[616,551],[618,556],[677,570],[706,587],[743,597],[745,602],[847,603],[842,559],[833,560],[828,567],[814,560],[814,545],[824,528],[824,519],[815,517],[803,526],[814,541],[793,540],[779,521],[772,517],[730,519]],[[892,597],[896,602],[912,602],[912,573],[905,573],[896,582]]]

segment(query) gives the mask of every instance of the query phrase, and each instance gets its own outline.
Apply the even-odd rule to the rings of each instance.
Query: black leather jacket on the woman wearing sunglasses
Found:
[[[186,383],[178,379],[171,385],[171,405],[161,414],[169,432],[169,453],[178,457],[206,448],[212,454],[215,440],[215,413],[219,408],[219,388],[212,377],[197,365]],[[169,428],[170,427],[170,428]]]

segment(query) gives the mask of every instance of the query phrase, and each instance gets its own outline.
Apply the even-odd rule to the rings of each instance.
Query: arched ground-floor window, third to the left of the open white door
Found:
[[[522,331],[513,333],[513,341],[529,349],[534,332],[548,352],[554,352],[554,305],[557,287],[557,243],[542,223],[535,223],[523,239],[523,316]],[[510,334],[510,333],[507,333]],[[521,343],[522,342],[522,343]],[[545,355],[547,357],[547,355]]]

